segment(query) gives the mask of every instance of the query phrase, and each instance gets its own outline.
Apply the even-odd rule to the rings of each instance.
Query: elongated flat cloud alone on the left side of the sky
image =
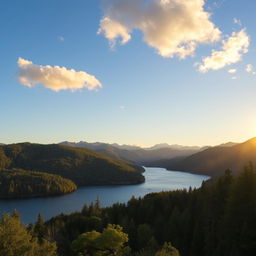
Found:
[[[39,66],[32,61],[19,58],[19,81],[21,84],[34,87],[42,84],[53,91],[71,90],[87,88],[95,90],[102,87],[100,81],[83,71],[75,71],[59,66]]]

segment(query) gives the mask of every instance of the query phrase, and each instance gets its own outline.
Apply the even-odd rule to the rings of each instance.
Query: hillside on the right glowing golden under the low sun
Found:
[[[169,170],[219,176],[226,169],[238,174],[249,162],[256,165],[256,138],[240,144],[228,143],[211,147],[179,161],[170,159],[164,165]]]

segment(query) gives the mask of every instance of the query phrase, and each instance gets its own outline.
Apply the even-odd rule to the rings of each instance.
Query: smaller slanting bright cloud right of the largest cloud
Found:
[[[203,58],[203,63],[199,65],[199,71],[218,70],[239,62],[243,54],[248,52],[249,44],[250,39],[244,29],[239,32],[233,32],[226,41],[223,41],[221,51],[213,50],[211,56]]]

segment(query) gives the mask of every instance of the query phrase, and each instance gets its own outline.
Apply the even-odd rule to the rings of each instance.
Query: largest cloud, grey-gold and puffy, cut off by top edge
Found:
[[[220,30],[204,10],[205,0],[105,0],[98,33],[113,47],[137,29],[163,57],[193,55],[197,44],[220,39]]]

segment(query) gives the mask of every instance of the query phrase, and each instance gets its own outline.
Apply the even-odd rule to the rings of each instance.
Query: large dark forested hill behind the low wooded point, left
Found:
[[[60,175],[78,186],[144,182],[142,167],[91,150],[21,143],[0,146],[0,169],[19,168]]]

